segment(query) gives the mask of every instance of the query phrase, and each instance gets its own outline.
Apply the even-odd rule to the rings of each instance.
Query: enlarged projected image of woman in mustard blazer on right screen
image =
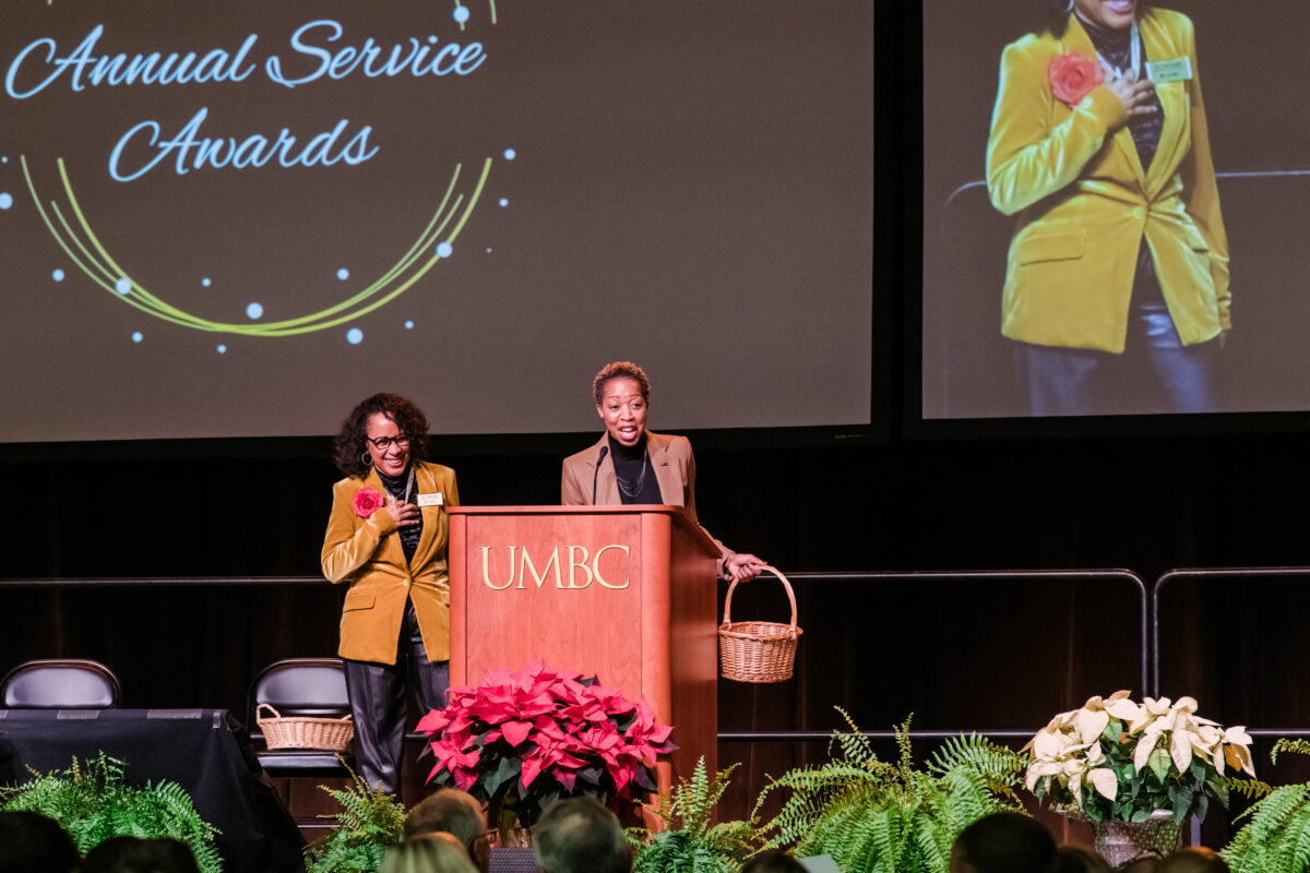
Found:
[[[1212,411],[1231,294],[1192,22],[1052,8],[1005,48],[986,153],[993,205],[1018,215],[1002,334],[1032,412]],[[1131,399],[1142,382],[1154,397]]]

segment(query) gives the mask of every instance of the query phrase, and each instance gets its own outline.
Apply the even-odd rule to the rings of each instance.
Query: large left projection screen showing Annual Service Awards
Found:
[[[872,1],[10,0],[0,442],[870,423]]]

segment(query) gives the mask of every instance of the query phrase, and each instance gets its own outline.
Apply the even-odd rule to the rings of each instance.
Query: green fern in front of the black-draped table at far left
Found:
[[[111,836],[170,836],[186,843],[203,873],[221,873],[214,844],[217,831],[195,811],[191,797],[173,781],[128,785],[127,766],[100,753],[85,767],[72,760],[62,772],[0,789],[0,810],[41,813],[59,822],[86,853]]]

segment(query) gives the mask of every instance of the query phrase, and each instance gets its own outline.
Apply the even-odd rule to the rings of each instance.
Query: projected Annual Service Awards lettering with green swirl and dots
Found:
[[[453,9],[447,9],[447,24],[453,20],[457,31],[462,34],[474,20],[469,4],[453,0]],[[495,0],[486,0],[486,12],[490,24],[495,25]],[[234,43],[223,45],[204,54],[194,48],[151,52],[141,51],[140,46],[132,46],[134,51],[115,54],[117,41],[124,41],[123,33],[103,22],[88,26],[80,42],[33,34],[35,38],[8,60],[4,88],[10,98],[29,101],[46,97],[60,88],[71,93],[88,93],[100,88],[186,89],[203,84],[212,97],[220,89],[241,88],[262,77],[266,84],[299,96],[313,86],[321,88],[352,76],[381,84],[462,80],[486,60],[481,42],[452,41],[439,38],[435,33],[423,37],[418,31],[419,35],[384,45],[372,37],[359,42],[362,35],[358,30],[347,33],[347,26],[334,18],[293,21],[290,26],[284,25],[286,30],[275,25],[266,27],[262,33],[250,31],[238,47]],[[202,127],[221,124],[221,120],[215,119],[219,113],[211,111],[211,103],[206,101],[204,106],[194,111],[187,109],[187,113],[191,114],[191,120],[172,139],[153,115],[135,126],[126,126],[126,132],[107,158],[110,178],[119,183],[132,183],[147,174],[168,174],[174,152],[174,171],[181,177],[193,171],[241,171],[249,168],[358,168],[381,151],[369,139],[383,136],[373,126],[373,119],[352,127],[343,116],[335,128],[313,137],[299,131],[292,134],[287,126],[276,136],[259,132],[211,137],[208,130],[202,132]],[[348,144],[342,145],[339,140],[346,139],[348,127],[354,132]],[[152,148],[153,156],[144,160],[141,156]],[[479,152],[482,148],[476,147],[472,154],[478,156]],[[124,157],[127,154],[134,157]],[[503,157],[512,161],[515,151],[504,149]],[[316,300],[312,306],[300,304],[291,309],[288,317],[276,321],[263,321],[263,304],[249,302],[245,306],[246,321],[237,322],[211,318],[212,312],[196,312],[194,302],[179,305],[177,301],[185,293],[179,293],[176,287],[169,292],[143,277],[155,264],[130,264],[127,262],[134,255],[124,258],[105,243],[96,230],[96,223],[103,226],[121,221],[124,216],[119,205],[111,203],[106,207],[100,200],[93,203],[90,200],[96,200],[94,196],[88,200],[84,160],[85,156],[80,154],[42,153],[39,148],[35,152],[24,149],[20,154],[24,183],[41,223],[73,264],[69,272],[80,272],[101,291],[144,315],[196,331],[250,338],[296,336],[347,325],[414,288],[434,267],[455,254],[456,241],[478,207],[493,166],[491,157],[473,157],[472,162],[464,162],[469,160],[468,152],[461,162],[455,162],[444,194],[438,185],[426,195],[436,200],[435,209],[428,212],[431,207],[419,207],[417,213],[411,213],[409,221],[415,225],[413,232],[405,229],[403,224],[400,229],[388,232],[388,238],[397,241],[397,257],[389,264],[384,259],[383,266],[369,267],[369,272],[376,271],[376,275],[354,277],[350,270],[342,267],[337,271],[337,280],[346,291],[331,292],[326,301]],[[75,188],[79,175],[83,177],[81,198]],[[434,181],[440,178],[438,175]],[[0,208],[13,205],[8,192],[0,196]],[[503,198],[500,205],[506,205]],[[426,224],[424,215],[430,215]],[[168,250],[166,245],[160,247]],[[140,255],[135,257],[139,260]],[[55,281],[63,281],[67,274],[64,270],[55,270],[51,275]],[[266,276],[266,283],[286,283],[286,277]],[[208,276],[202,284],[210,287]],[[257,297],[269,300],[262,294]],[[335,302],[320,308],[333,300]],[[313,312],[296,313],[297,308]],[[405,327],[411,329],[413,323],[406,321]],[[134,331],[131,338],[134,343],[140,343],[143,332]],[[362,338],[359,327],[351,327],[346,332],[347,342],[352,344],[360,343]],[[219,346],[217,351],[225,352],[227,347]]]

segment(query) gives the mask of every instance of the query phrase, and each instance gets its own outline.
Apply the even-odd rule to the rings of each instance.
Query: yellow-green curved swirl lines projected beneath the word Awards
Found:
[[[486,186],[487,175],[491,171],[491,158],[482,164],[482,170],[473,183],[472,191],[461,192],[460,177],[464,173],[462,165],[456,165],[447,186],[445,196],[438,205],[436,212],[427,226],[418,234],[407,251],[390,266],[383,275],[376,277],[364,288],[341,302],[308,313],[296,318],[287,318],[266,323],[238,323],[217,322],[202,318],[194,313],[183,312],[152,293],[148,288],[134,280],[131,274],[123,270],[114,259],[77,202],[72,182],[68,178],[68,169],[63,158],[58,160],[59,178],[63,182],[64,205],[55,199],[43,200],[37,191],[31,171],[28,168],[26,156],[21,156],[24,181],[31,194],[37,211],[50,234],[64,250],[77,268],[93,283],[106,292],[121,298],[124,304],[174,325],[191,327],[194,330],[240,334],[245,336],[293,336],[296,334],[309,334],[326,330],[365,315],[380,306],[409,291],[443,258],[453,253],[455,240],[460,236],[469,215],[473,212]]]

